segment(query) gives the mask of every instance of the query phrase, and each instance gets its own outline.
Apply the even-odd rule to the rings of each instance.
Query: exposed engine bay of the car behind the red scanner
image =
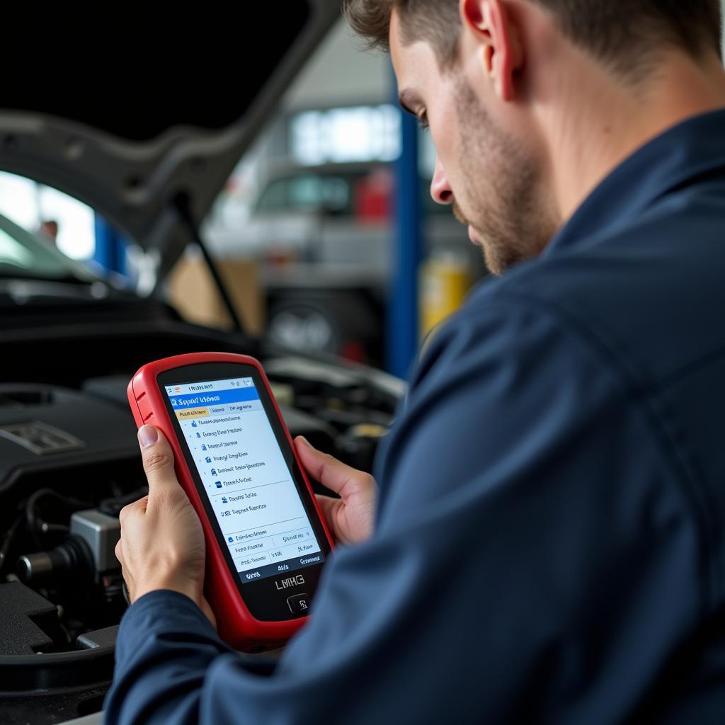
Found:
[[[291,434],[367,471],[403,390],[384,373],[178,319],[2,336],[13,354],[0,382],[0,708],[11,723],[97,712],[112,679],[127,607],[118,513],[148,490],[125,394],[140,365],[254,355]]]

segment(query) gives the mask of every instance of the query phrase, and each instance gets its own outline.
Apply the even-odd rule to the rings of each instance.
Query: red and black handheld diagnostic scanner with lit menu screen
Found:
[[[220,636],[249,652],[282,645],[305,624],[332,539],[262,366],[167,357],[138,370],[128,402],[136,426],[167,437],[202,521]]]

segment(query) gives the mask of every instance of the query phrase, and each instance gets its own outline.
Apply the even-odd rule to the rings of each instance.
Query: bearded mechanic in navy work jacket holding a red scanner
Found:
[[[170,448],[123,512],[108,723],[725,721],[718,0],[348,0],[490,268],[265,669],[223,645]],[[273,32],[273,29],[269,29]],[[374,515],[373,515],[374,506]],[[371,525],[374,521],[374,527]],[[373,531],[374,528],[374,531]]]

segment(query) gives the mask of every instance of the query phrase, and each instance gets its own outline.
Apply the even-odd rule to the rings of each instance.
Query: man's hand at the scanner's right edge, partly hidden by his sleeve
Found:
[[[373,534],[378,486],[373,476],[341,463],[313,448],[307,439],[294,439],[297,455],[315,481],[339,494],[339,499],[318,495],[317,500],[334,539],[358,544]]]

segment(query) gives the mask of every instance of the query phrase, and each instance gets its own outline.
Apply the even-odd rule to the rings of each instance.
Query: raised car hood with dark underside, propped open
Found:
[[[33,6],[0,43],[0,169],[93,207],[163,278],[190,241],[175,204],[198,227],[340,8]]]

